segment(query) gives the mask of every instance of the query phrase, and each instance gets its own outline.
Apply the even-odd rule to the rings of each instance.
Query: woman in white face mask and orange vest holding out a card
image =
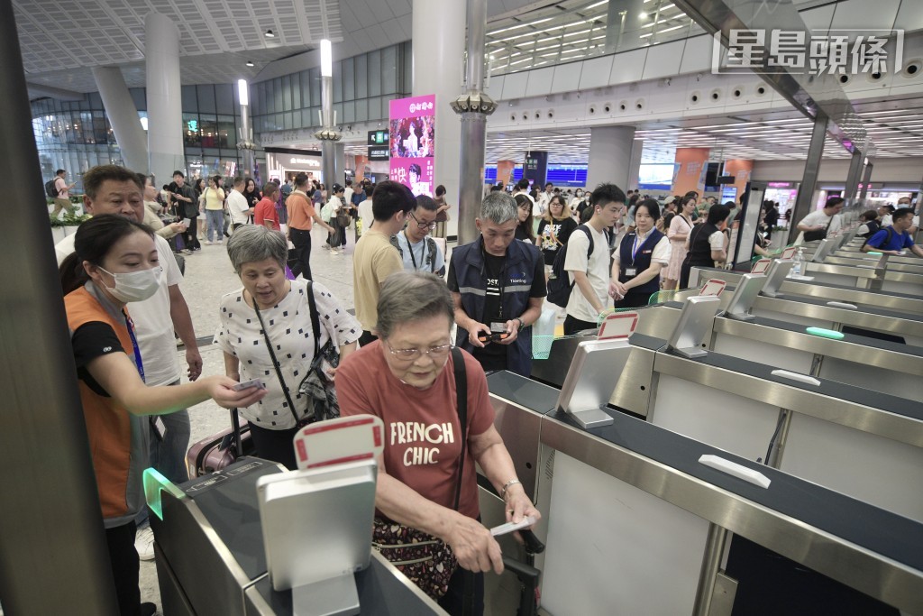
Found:
[[[74,248],[59,273],[119,610],[122,616],[152,614],[153,603],[140,603],[135,551],[141,473],[150,460],[146,416],[208,398],[227,408],[252,405],[265,391],[235,392],[237,382],[223,376],[147,387],[126,304],[149,298],[160,284],[150,228],[121,216],[94,216],[78,227]]]

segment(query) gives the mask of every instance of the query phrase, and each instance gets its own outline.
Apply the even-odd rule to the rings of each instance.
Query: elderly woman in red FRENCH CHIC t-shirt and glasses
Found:
[[[519,522],[526,515],[537,519],[540,514],[526,496],[494,428],[484,369],[462,350],[457,356],[451,353],[452,319],[449,289],[440,278],[423,272],[390,275],[378,296],[379,339],[342,362],[337,394],[342,415],[371,414],[385,422],[378,514],[450,546],[460,566],[440,604],[457,613],[463,570],[476,574],[475,608],[483,604],[482,572],[503,570],[497,541],[477,520],[474,463],[506,501],[507,521]],[[455,393],[456,357],[464,362],[467,382],[467,438],[457,511],[462,430]]]

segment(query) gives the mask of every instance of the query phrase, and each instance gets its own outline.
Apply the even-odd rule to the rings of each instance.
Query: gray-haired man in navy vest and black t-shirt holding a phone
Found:
[[[532,330],[545,299],[545,260],[538,248],[514,241],[516,201],[502,191],[487,195],[474,221],[481,233],[455,248],[449,289],[458,323],[456,344],[485,370],[532,372]]]

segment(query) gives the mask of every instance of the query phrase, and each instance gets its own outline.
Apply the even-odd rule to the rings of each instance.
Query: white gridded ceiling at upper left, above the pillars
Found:
[[[535,4],[490,0],[488,18]],[[341,58],[409,41],[412,6],[412,0],[13,0],[27,81],[74,92],[97,91],[93,66],[121,66],[129,88],[146,85],[150,12],[179,29],[186,85],[254,79],[263,66],[325,38]]]

